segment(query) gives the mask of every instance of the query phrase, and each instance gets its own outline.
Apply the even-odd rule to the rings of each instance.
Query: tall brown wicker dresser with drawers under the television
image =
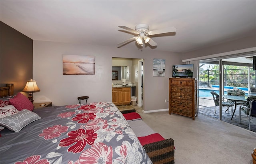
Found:
[[[169,114],[196,116],[196,79],[169,78]]]

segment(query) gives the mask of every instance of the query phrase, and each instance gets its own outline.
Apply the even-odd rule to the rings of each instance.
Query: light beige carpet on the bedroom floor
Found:
[[[174,140],[175,164],[252,164],[255,132],[204,115],[193,121],[168,111],[139,113],[155,132]]]

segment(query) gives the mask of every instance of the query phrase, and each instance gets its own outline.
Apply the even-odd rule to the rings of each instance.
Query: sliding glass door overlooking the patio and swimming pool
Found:
[[[239,90],[245,95],[246,100],[253,94],[256,72],[253,70],[252,61],[247,58],[238,56],[199,61],[199,114],[239,126],[239,107],[242,103],[235,105],[234,101],[227,99],[226,95]]]

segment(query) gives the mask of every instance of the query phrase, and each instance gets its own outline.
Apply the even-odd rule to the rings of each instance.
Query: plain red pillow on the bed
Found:
[[[9,100],[10,104],[13,105],[16,109],[21,111],[22,109],[27,109],[32,111],[34,109],[34,105],[26,96],[21,93],[18,93],[15,98]]]

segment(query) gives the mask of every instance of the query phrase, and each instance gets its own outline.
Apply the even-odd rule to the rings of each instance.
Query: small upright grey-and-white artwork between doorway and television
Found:
[[[165,59],[153,59],[153,76],[165,76]]]

